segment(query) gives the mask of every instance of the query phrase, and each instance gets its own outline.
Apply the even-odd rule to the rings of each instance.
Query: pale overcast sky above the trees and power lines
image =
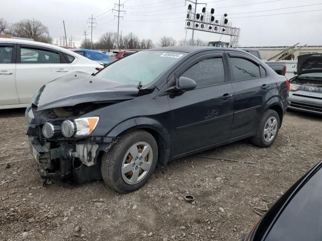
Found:
[[[64,35],[62,25],[64,20],[67,39],[72,35],[75,45],[78,45],[85,38],[84,30],[90,37],[91,31],[87,21],[92,14],[97,22],[93,30],[93,41],[98,40],[105,32],[117,31],[117,19],[114,20],[114,14],[117,12],[111,11],[117,1],[2,0],[0,17],[9,23],[35,18],[48,27],[54,39]],[[240,46],[285,46],[297,42],[301,45],[322,45],[321,0],[198,0],[198,2],[207,3],[209,11],[214,8],[215,15],[228,14],[229,22],[241,29]],[[121,13],[124,16],[123,20],[120,20],[122,35],[133,32],[140,39],[150,38],[154,43],[164,35],[172,36],[178,41],[185,38],[187,6],[184,0],[121,0],[122,3],[124,8],[121,10],[126,11],[125,14]],[[304,7],[304,5],[310,6]],[[198,5],[197,12],[200,13],[202,7],[204,5]],[[218,41],[220,37],[218,34],[195,31],[195,38],[207,42]],[[191,30],[187,31],[187,39],[189,38]],[[223,36],[221,41],[229,42],[229,37]]]

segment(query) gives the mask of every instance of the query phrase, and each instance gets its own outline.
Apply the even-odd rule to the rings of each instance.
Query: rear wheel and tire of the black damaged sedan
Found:
[[[251,137],[252,143],[261,148],[270,147],[277,137],[279,127],[278,113],[273,109],[266,110],[260,119],[256,135]]]

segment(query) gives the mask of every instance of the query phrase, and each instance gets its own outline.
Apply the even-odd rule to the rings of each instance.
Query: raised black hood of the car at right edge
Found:
[[[304,54],[298,56],[298,75],[319,72],[322,72],[322,54]]]

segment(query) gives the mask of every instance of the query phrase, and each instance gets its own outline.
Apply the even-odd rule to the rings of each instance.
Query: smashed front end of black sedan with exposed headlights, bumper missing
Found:
[[[82,103],[37,111],[26,110],[31,153],[43,179],[73,177],[77,183],[101,179],[100,155],[116,138],[93,137],[99,116],[82,115],[118,101]]]

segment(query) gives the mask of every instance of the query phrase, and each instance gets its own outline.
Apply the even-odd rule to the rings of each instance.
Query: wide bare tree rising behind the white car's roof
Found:
[[[10,33],[17,37],[32,38],[45,43],[50,42],[48,28],[38,20],[21,20],[11,26]]]

